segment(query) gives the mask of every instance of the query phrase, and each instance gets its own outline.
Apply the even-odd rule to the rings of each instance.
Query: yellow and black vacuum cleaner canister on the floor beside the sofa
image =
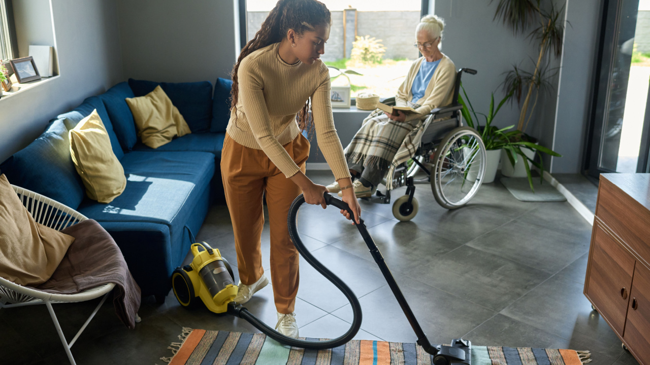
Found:
[[[209,310],[226,312],[228,303],[237,295],[230,265],[218,249],[205,242],[192,244],[190,249],[194,255],[192,263],[172,273],[176,299],[183,307],[191,307],[197,302],[196,297],[200,297]]]

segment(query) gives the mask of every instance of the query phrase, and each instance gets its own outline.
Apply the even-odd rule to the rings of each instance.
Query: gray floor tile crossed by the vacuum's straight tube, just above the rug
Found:
[[[495,314],[493,310],[402,275],[395,275],[395,281],[419,321],[422,331],[432,343],[448,343],[452,338],[458,338],[471,331]],[[361,297],[359,302],[363,312],[361,329],[391,342],[417,340],[388,285]],[[350,305],[332,314],[352,322]]]

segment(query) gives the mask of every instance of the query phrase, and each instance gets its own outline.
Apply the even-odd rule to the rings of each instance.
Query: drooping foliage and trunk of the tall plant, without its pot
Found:
[[[525,132],[528,124],[526,116],[532,114],[534,109],[533,106],[530,111],[528,110],[532,94],[533,92],[539,94],[540,87],[543,80],[545,80],[542,72],[545,69],[542,62],[544,55],[549,51],[552,52],[554,57],[560,57],[562,54],[564,39],[564,19],[562,19],[562,14],[564,13],[564,5],[557,8],[552,0],[547,1],[547,6],[541,6],[542,0],[491,0],[490,3],[493,1],[498,1],[494,19],[501,19],[515,34],[524,32],[528,27],[534,27],[528,34],[528,38],[536,40],[539,46],[537,62],[533,61],[535,65],[533,71],[523,73],[521,69],[517,69],[515,66],[515,69],[507,73],[504,82],[506,93],[510,92],[508,90],[509,86],[515,86],[517,89],[515,98],[521,106],[517,130]],[[549,8],[549,10],[545,10],[545,8]],[[508,78],[511,79],[510,82],[508,82]],[[518,79],[521,83],[513,83],[513,78]],[[526,90],[526,88],[528,90],[526,94],[523,94],[522,90]],[[537,96],[533,103],[536,105]],[[528,116],[528,120],[530,120],[530,116]]]

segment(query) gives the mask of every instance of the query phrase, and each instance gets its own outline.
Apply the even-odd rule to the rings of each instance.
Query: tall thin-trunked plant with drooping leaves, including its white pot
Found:
[[[492,1],[495,0],[490,2]],[[526,128],[537,106],[540,92],[552,87],[549,79],[554,75],[553,70],[549,70],[548,65],[544,62],[544,56],[551,51],[552,56],[560,57],[564,39],[564,19],[562,19],[564,5],[557,8],[551,0],[547,0],[545,4],[542,3],[542,0],[498,0],[494,16],[495,19],[501,19],[515,34],[526,31],[528,27],[535,27],[528,34],[528,38],[538,42],[539,49],[536,62],[534,60],[532,62],[532,71],[526,71],[521,66],[513,65],[513,69],[506,73],[506,78],[502,83],[506,94],[513,92],[513,96],[521,107],[517,121],[519,134],[513,138],[532,144],[535,140],[526,134]],[[504,164],[502,173],[506,176],[523,177],[528,175],[530,177],[527,173],[530,170],[530,164],[524,162],[530,161],[535,152],[525,145],[521,145],[519,149],[527,154],[526,158],[518,160],[516,156],[519,153],[513,154],[512,150],[504,149],[504,153],[508,154],[508,160],[515,161],[519,166]]]

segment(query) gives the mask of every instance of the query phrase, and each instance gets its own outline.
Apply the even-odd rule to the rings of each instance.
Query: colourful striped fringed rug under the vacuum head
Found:
[[[184,328],[183,342],[168,347],[169,365],[432,365],[432,356],[416,344],[354,340],[327,350],[283,346],[262,333]],[[317,340],[308,338],[308,340]],[[472,346],[472,365],[582,365],[589,351],[530,347]]]

